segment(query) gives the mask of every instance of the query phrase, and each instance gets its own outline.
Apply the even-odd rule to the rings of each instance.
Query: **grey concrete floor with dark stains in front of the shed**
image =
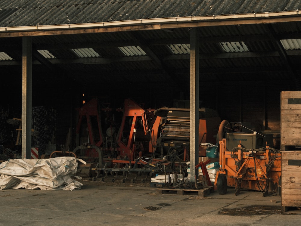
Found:
[[[235,189],[206,197],[197,192],[160,194],[149,183],[81,181],[81,190],[0,190],[0,225],[285,225],[301,222],[300,210],[281,213],[278,194]],[[272,203],[273,202],[276,203]]]

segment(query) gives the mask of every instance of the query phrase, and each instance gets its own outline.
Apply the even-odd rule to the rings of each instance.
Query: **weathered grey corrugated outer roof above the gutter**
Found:
[[[2,0],[0,27],[278,12],[297,9],[301,9],[299,0]]]

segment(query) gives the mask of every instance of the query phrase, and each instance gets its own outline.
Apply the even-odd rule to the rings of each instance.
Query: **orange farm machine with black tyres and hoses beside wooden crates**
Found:
[[[256,133],[253,134],[256,135]],[[250,137],[253,134],[249,134]],[[279,183],[281,182],[280,151],[269,147],[267,144],[260,148],[257,148],[257,145],[254,149],[244,148],[243,144],[247,140],[247,138],[237,139],[239,142],[237,147],[229,147],[230,149],[227,148],[226,142],[231,141],[225,138],[219,141],[220,169],[215,181],[218,193],[227,193],[227,187],[235,187],[235,195],[239,194],[241,188],[261,191],[263,196],[268,193],[279,192]],[[254,139],[254,142],[257,144],[257,139]]]

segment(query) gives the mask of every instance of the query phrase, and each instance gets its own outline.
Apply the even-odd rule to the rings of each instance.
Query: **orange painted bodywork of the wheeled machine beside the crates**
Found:
[[[229,187],[262,191],[268,185],[268,192],[278,192],[281,153],[274,153],[269,147],[248,152],[238,149],[234,153],[226,150],[226,139],[220,141],[219,145],[220,169],[216,175],[215,184],[217,184],[218,175],[223,173],[227,177]],[[269,164],[271,167],[268,170]]]

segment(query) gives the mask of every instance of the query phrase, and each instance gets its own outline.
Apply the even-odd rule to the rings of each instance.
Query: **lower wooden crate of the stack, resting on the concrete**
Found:
[[[301,207],[301,151],[281,151],[281,211]]]

